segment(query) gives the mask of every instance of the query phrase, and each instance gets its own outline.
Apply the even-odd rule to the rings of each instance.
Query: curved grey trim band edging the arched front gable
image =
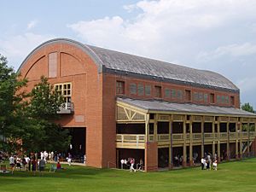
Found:
[[[47,46],[49,44],[56,44],[56,43],[71,44],[71,45],[78,47],[79,49],[82,49],[87,55],[90,55],[90,58],[96,63],[96,65],[98,67],[98,72],[99,73],[102,72],[102,68],[104,67],[104,64],[103,64],[102,60],[96,55],[96,53],[92,49],[90,49],[90,47],[88,47],[86,44],[81,44],[78,41],[72,40],[70,38],[54,38],[54,39],[50,39],[49,41],[44,42],[43,44],[39,44],[38,47],[36,47],[35,49],[32,49],[30,54],[26,56],[25,60],[22,61],[17,72],[18,73],[20,72],[20,69],[25,65],[26,61],[28,61],[32,57],[32,55],[35,52],[37,52],[39,49],[42,49],[42,48],[44,48],[44,46]]]

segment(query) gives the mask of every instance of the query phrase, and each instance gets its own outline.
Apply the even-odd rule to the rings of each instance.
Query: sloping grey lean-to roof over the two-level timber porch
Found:
[[[131,98],[118,97],[117,101],[124,102],[136,108],[146,110],[148,113],[164,112],[164,113],[207,113],[212,115],[230,115],[256,118],[255,113],[249,113],[240,108],[224,108],[218,106],[204,106],[191,103],[174,103],[163,102],[157,100],[137,100]]]

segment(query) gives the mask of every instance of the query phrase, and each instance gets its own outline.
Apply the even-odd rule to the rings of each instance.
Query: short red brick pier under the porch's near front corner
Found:
[[[145,171],[154,172],[158,170],[158,148],[157,143],[145,144]]]

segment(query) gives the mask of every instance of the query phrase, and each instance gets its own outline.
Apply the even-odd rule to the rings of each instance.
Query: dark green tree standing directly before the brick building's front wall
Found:
[[[30,102],[26,108],[29,117],[24,127],[22,146],[26,150],[66,150],[70,143],[68,131],[55,124],[60,118],[57,112],[63,103],[63,97],[48,83],[48,79],[41,77],[30,93]]]

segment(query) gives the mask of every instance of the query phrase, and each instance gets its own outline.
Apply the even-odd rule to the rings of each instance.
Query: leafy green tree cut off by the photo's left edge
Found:
[[[20,119],[26,108],[26,102],[23,102],[26,93],[20,90],[26,79],[18,79],[14,69],[7,64],[6,57],[0,54],[0,135],[4,140],[9,138],[9,144],[1,142],[0,147],[14,149],[15,138],[20,132]]]

